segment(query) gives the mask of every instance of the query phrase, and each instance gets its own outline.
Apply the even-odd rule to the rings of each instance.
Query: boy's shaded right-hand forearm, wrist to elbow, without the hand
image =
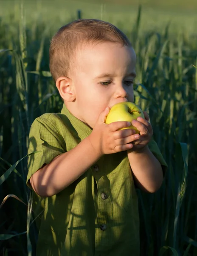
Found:
[[[146,192],[156,192],[162,184],[163,171],[149,147],[139,153],[129,152],[128,158],[137,186]]]

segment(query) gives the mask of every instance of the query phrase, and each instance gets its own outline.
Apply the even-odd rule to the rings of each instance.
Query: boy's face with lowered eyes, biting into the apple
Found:
[[[76,94],[70,112],[91,128],[107,106],[133,102],[136,55],[132,47],[104,42],[76,52],[71,77]]]

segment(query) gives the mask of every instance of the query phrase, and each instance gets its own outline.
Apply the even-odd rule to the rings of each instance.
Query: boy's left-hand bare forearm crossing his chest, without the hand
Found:
[[[30,179],[31,186],[42,197],[56,195],[83,175],[100,157],[86,138],[35,172]]]

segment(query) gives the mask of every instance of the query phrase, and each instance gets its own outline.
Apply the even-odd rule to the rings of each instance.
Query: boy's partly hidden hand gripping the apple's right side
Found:
[[[133,147],[128,150],[128,153],[140,152],[151,140],[153,135],[152,125],[149,123],[149,115],[143,111],[144,118],[138,117],[137,120],[132,121],[132,125],[135,126],[140,132],[139,139],[132,142]]]

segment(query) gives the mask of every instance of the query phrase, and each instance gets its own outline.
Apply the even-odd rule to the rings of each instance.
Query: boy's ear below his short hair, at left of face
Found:
[[[61,76],[56,80],[56,87],[59,90],[59,94],[67,102],[75,100],[75,90],[72,84],[72,79]]]

